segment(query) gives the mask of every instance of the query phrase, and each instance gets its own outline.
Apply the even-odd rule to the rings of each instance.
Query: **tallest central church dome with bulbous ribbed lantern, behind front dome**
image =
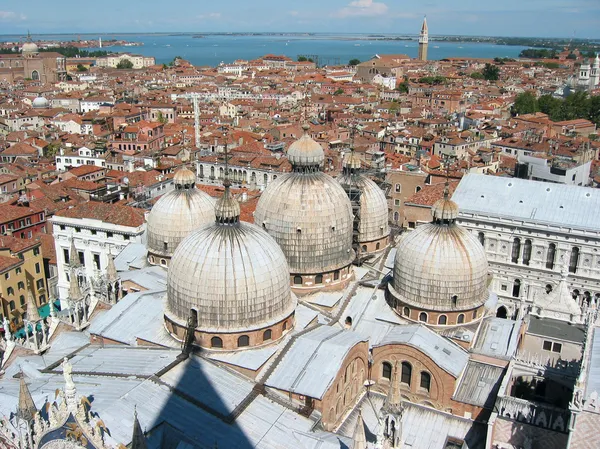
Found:
[[[320,171],[323,149],[307,133],[290,146],[288,157],[293,172],[265,189],[254,222],[283,250],[296,291],[344,284],[354,260],[350,200]]]

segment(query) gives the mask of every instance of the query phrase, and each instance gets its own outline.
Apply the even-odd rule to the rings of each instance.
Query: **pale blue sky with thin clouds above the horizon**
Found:
[[[600,0],[0,0],[0,34],[311,31],[600,38]]]

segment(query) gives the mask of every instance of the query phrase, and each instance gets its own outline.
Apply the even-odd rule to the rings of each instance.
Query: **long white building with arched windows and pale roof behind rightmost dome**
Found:
[[[490,285],[509,315],[557,288],[566,264],[579,304],[600,299],[600,191],[467,175],[452,199],[458,223],[486,250]]]

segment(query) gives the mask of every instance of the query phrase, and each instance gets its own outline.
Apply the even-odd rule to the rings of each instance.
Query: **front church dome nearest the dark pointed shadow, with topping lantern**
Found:
[[[193,310],[200,332],[264,329],[296,307],[283,252],[261,228],[232,216],[233,203],[226,188],[216,221],[184,239],[169,268],[167,317],[185,322]]]

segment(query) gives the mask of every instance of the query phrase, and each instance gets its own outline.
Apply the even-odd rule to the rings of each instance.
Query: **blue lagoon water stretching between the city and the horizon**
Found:
[[[368,35],[311,34],[311,35],[222,35],[202,34],[105,34],[108,39],[141,42],[139,47],[104,47],[102,50],[154,56],[159,64],[168,63],[181,56],[194,65],[216,66],[236,59],[255,59],[265,54],[286,55],[296,59],[298,55],[317,55],[322,65],[346,64],[350,59],[365,61],[373,55],[406,54],[417,57],[418,42],[414,40],[378,40]],[[82,40],[98,39],[97,35],[79,35]],[[0,41],[17,41],[21,36],[0,36]],[[75,40],[77,35],[35,35],[35,40]],[[448,57],[515,58],[528,47],[496,45],[489,42],[429,42],[429,59]],[[96,50],[92,48],[90,50]]]

